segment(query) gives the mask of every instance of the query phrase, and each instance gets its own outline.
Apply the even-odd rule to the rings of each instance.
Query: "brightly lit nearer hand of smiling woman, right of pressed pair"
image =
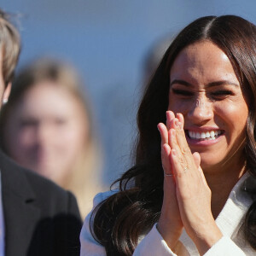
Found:
[[[183,130],[183,115],[172,119],[170,160],[183,226],[203,254],[223,235],[211,211],[211,189],[200,166],[200,154],[191,153]],[[199,166],[199,167],[198,167]]]

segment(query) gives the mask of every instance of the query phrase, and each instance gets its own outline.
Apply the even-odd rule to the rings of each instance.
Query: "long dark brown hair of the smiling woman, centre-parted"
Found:
[[[235,15],[202,17],[186,26],[166,50],[137,113],[135,166],[116,181],[119,192],[102,201],[90,218],[93,236],[106,248],[107,255],[131,255],[139,236],[146,234],[160,217],[164,177],[156,126],[166,122],[173,61],[182,49],[201,40],[208,40],[224,51],[241,90],[247,95],[246,161],[247,169],[256,177],[256,26]],[[255,223],[256,202],[248,210],[245,220],[245,236],[254,249]]]

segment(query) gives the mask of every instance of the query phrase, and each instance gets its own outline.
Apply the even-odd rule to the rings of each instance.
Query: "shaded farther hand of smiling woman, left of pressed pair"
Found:
[[[161,137],[161,161],[164,169],[164,198],[157,229],[171,249],[176,246],[183,230],[183,223],[177,204],[175,178],[172,176],[170,160],[169,132],[174,128],[172,127],[173,119],[175,119],[174,113],[167,111],[166,125],[160,123],[157,126]]]

